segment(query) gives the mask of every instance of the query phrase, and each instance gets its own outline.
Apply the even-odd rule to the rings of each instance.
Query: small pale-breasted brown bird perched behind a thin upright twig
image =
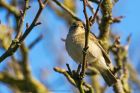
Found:
[[[77,63],[83,62],[83,48],[85,45],[85,27],[81,21],[74,22],[69,29],[66,38],[66,50],[68,54]],[[93,34],[89,34],[89,43],[86,55],[87,66],[94,68],[100,72],[105,82],[111,86],[117,82],[117,79],[107,66],[110,59],[106,51],[99,44],[98,40]]]

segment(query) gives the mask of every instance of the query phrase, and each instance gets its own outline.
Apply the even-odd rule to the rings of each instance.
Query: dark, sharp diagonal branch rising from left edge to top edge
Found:
[[[48,0],[46,0],[47,2]],[[15,53],[15,51],[19,48],[19,46],[21,45],[21,43],[24,41],[24,39],[28,36],[28,34],[32,31],[32,29],[38,25],[37,20],[42,12],[42,10],[45,8],[46,6],[46,2],[45,4],[41,1],[38,0],[39,2],[39,10],[32,22],[32,24],[25,30],[25,33],[23,34],[23,36],[21,36],[21,38],[19,39],[14,39],[10,45],[10,47],[8,48],[8,50],[2,54],[2,56],[0,57],[0,63],[7,57],[11,56],[13,53]]]

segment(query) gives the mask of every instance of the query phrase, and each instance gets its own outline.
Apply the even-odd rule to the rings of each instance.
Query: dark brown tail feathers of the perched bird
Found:
[[[100,73],[107,85],[111,86],[117,82],[116,77],[112,74],[112,72],[109,69],[101,70]]]

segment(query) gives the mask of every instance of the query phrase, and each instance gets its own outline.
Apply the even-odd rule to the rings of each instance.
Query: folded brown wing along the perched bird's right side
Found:
[[[108,56],[108,54],[106,53],[106,51],[103,49],[103,47],[100,45],[99,41],[97,40],[96,36],[92,33],[89,34],[89,38],[93,39],[94,42],[99,46],[99,48],[101,49],[102,51],[102,54],[105,58],[105,61],[106,61],[106,64],[109,65],[111,63],[111,60]]]

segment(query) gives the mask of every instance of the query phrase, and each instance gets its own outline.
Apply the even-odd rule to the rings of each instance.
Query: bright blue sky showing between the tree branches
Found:
[[[77,2],[79,2],[79,0],[77,0]],[[121,23],[113,24],[111,26],[112,31],[120,35],[122,44],[126,44],[126,38],[129,34],[132,34],[129,58],[137,70],[140,65],[139,4],[140,0],[119,0],[113,8],[113,16],[125,16],[125,18]],[[27,12],[25,23],[32,22],[37,12],[38,3],[33,3],[31,6],[31,9]],[[82,2],[77,3],[77,7],[77,15],[84,20]],[[0,20],[2,24],[6,24],[5,14],[6,11],[1,9]],[[32,74],[37,79],[41,80],[41,82],[53,91],[53,93],[62,93],[62,91],[64,93],[72,93],[71,89],[74,89],[74,87],[69,84],[63,75],[56,73],[53,70],[55,66],[66,68],[65,63],[69,63],[73,69],[77,67],[77,64],[73,62],[65,51],[64,42],[61,41],[61,38],[66,38],[68,32],[66,22],[62,18],[58,17],[48,7],[44,9],[39,20],[42,24],[35,27],[32,33],[25,40],[26,44],[29,45],[38,35],[41,33],[44,35],[44,39],[29,52],[29,63],[32,69]],[[10,21],[11,25],[13,25],[12,20]],[[93,26],[93,28],[94,27],[95,29],[92,29],[93,32],[97,29],[96,26]],[[23,30],[24,28],[25,25]],[[97,33],[97,31],[95,31],[95,33]],[[2,52],[0,52],[0,54],[2,54]],[[5,66],[5,62],[1,63],[0,71],[2,71]],[[45,73],[43,77],[41,77],[42,73]],[[112,92],[112,88],[108,88],[107,91]],[[0,83],[0,93],[11,93],[11,91],[6,85]],[[138,93],[138,91],[135,93]]]

